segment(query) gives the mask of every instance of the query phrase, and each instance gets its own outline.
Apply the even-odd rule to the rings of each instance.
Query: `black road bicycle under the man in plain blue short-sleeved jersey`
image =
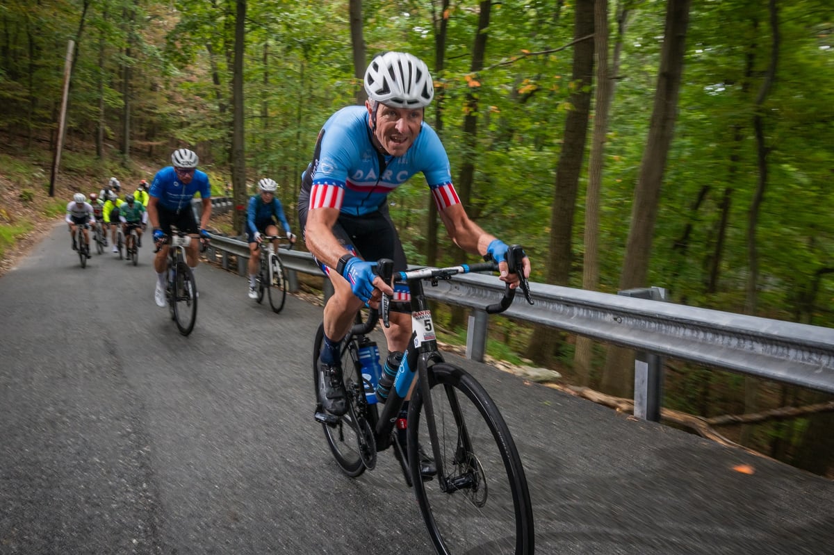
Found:
[[[186,263],[185,256],[185,248],[193,240],[198,239],[172,228],[171,235],[166,235],[154,251],[157,253],[163,244],[170,246],[166,267],[168,286],[165,288],[165,298],[168,299],[171,319],[177,323],[179,333],[183,335],[191,333],[194,323],[197,322],[197,283],[194,282],[194,273]],[[201,251],[205,248],[205,243],[201,243]]]

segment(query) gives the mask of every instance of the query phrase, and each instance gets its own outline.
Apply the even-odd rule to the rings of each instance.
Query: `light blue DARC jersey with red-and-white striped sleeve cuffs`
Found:
[[[344,107],[319,132],[314,160],[302,174],[299,203],[361,216],[378,210],[391,191],[418,172],[424,174],[440,210],[460,203],[449,157],[429,124],[422,123],[403,156],[384,156],[371,142],[367,109]]]

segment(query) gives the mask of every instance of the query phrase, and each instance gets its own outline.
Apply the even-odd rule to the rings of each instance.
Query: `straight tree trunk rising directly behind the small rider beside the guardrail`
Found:
[[[244,50],[246,31],[246,0],[237,0],[234,23],[234,70],[232,75],[232,183],[235,207],[246,206],[246,148],[244,143]],[[232,225],[244,232],[246,214],[235,209]]]

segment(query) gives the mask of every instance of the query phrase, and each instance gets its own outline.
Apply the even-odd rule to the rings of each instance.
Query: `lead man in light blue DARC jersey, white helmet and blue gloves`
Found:
[[[374,261],[391,258],[395,272],[406,269],[386,198],[415,173],[423,173],[451,240],[468,253],[491,255],[500,279],[512,288],[519,283],[507,269],[507,245],[465,213],[445,148],[424,121],[434,97],[425,62],[404,52],[384,52],[370,62],[364,87],[364,107],[344,107],[324,123],[299,195],[304,241],[334,288],[324,306],[319,399],[337,416],[346,411],[339,342],[359,308],[376,306],[380,292],[393,294],[391,327],[384,329],[389,353],[404,351],[411,336],[407,288],[393,291],[374,275]],[[530,275],[528,258],[524,273]]]

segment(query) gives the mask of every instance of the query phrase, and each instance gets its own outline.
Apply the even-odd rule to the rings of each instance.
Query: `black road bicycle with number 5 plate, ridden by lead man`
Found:
[[[519,246],[510,248],[510,273],[515,273],[515,268],[520,271],[523,257]],[[384,270],[391,264],[379,261],[379,273],[386,282],[389,279]],[[357,316],[357,323],[342,343],[347,413],[341,417],[326,413],[316,396],[315,419],[322,424],[329,448],[348,476],[372,470],[377,453],[393,446],[406,483],[414,486],[435,550],[444,555],[529,555],[535,551],[530,492],[510,430],[485,388],[463,368],[444,361],[423,289],[424,281],[437,285],[455,274],[494,272],[497,268],[490,262],[394,273],[395,283],[409,285],[413,332],[387,401],[381,409],[379,404],[369,403],[359,363],[359,346],[377,318],[389,324],[386,297],[380,303],[379,315],[369,311],[366,323]],[[528,283],[524,278],[521,281],[520,288],[532,303]],[[515,291],[507,285],[500,303],[486,307],[486,312],[500,313],[509,308]],[[323,342],[324,324],[319,326],[314,343],[316,392]],[[406,424],[406,455],[394,428],[415,373],[417,384]],[[437,471],[433,477],[421,473],[419,445],[430,446]]]

